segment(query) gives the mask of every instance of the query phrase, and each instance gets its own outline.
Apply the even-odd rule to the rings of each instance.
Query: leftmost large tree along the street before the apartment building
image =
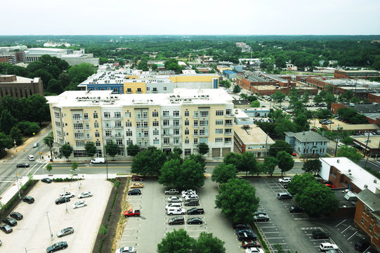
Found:
[[[160,169],[166,162],[166,153],[155,147],[140,151],[136,157],[133,157],[131,164],[132,173],[142,174],[144,176],[159,176]]]

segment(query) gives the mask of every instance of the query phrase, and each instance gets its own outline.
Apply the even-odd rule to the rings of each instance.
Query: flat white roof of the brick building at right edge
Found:
[[[336,167],[341,174],[348,176],[360,190],[367,188],[372,193],[380,193],[380,180],[347,157],[323,157],[320,160],[329,164],[330,167]]]

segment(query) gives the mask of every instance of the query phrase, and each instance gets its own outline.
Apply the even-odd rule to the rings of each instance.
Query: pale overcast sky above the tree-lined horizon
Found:
[[[5,1],[1,35],[380,34],[379,0]]]

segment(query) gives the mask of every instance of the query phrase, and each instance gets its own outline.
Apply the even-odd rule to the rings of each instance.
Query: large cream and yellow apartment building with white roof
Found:
[[[173,93],[112,94],[112,91],[65,91],[48,96],[54,141],[69,143],[74,157],[86,157],[84,144],[96,143],[104,156],[107,142],[120,147],[155,146],[164,151],[181,148],[184,155],[197,153],[207,143],[209,156],[232,152],[234,105],[223,89],[175,89]]]

